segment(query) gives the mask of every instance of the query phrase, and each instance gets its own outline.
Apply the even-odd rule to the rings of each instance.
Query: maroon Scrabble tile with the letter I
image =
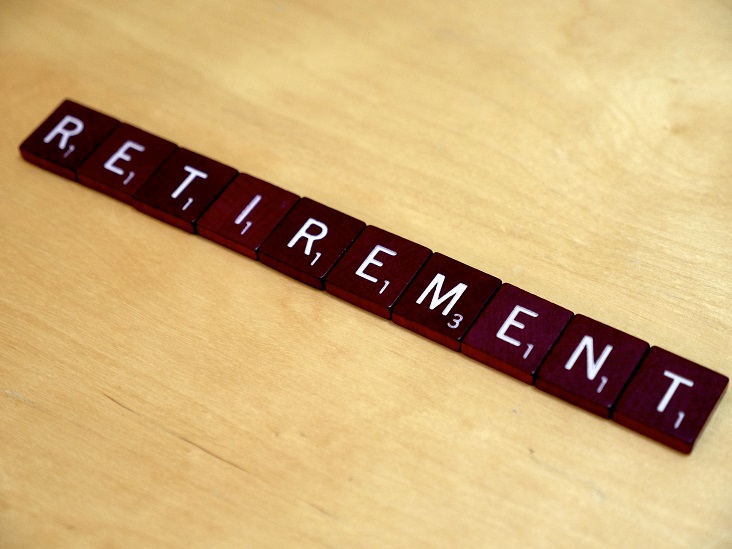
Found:
[[[240,173],[196,223],[198,234],[256,259],[264,239],[298,199],[294,193]]]

